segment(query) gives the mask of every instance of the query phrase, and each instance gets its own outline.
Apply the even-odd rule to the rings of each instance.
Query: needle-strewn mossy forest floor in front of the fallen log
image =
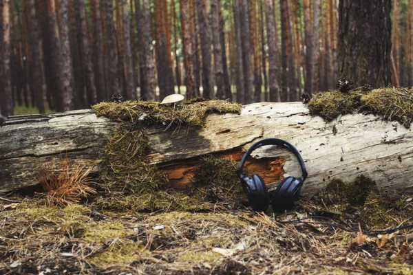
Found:
[[[379,228],[412,222],[413,197],[398,196],[385,199],[391,209],[379,213]],[[377,199],[340,208],[341,218],[358,228]],[[333,220],[277,222],[337,214],[319,212],[326,200],[299,201],[275,217],[218,203],[199,212],[111,212],[93,201],[47,206],[41,197],[3,196],[0,274],[412,274],[412,230],[367,236],[326,224]]]

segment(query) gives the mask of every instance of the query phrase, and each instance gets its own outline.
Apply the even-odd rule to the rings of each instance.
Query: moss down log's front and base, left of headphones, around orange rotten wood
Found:
[[[120,129],[103,150],[100,187],[105,195],[94,200],[102,210],[153,212],[157,210],[210,210],[241,206],[245,199],[232,159],[204,157],[194,177],[194,188],[168,190],[168,178],[147,161],[147,137],[139,130]]]

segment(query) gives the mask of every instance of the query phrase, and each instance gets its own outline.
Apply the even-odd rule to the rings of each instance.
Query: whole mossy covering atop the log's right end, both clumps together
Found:
[[[413,89],[380,88],[363,93],[358,90],[349,93],[326,91],[318,93],[308,102],[312,115],[319,115],[327,121],[338,115],[356,111],[370,111],[385,120],[397,120],[407,128],[413,120]]]

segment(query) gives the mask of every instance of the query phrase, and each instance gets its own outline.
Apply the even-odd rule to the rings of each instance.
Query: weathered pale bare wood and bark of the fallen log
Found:
[[[36,173],[58,165],[61,155],[98,173],[102,148],[121,125],[89,110],[11,117],[0,128],[0,192],[36,184]],[[325,122],[299,102],[261,102],[245,105],[240,114],[209,115],[204,126],[187,131],[151,126],[146,132],[149,163],[167,173],[171,188],[190,187],[204,155],[238,161],[253,142],[279,137],[296,146],[306,162],[304,196],[331,179],[351,181],[362,174],[379,188],[413,192],[413,132],[374,115]],[[272,146],[254,151],[246,168],[261,175],[269,188],[287,175],[301,175],[295,157]]]

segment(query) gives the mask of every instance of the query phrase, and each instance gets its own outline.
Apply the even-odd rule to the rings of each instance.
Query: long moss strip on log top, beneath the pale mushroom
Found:
[[[208,113],[239,113],[241,109],[241,104],[226,100],[199,99],[182,106],[154,101],[100,102],[92,106],[97,115],[105,115],[112,119],[136,122],[140,118],[146,124],[189,126],[202,126]]]

